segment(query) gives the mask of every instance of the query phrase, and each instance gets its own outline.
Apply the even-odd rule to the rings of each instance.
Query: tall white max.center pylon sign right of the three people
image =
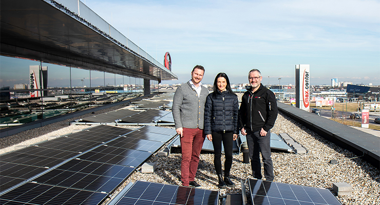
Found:
[[[310,65],[296,65],[296,107],[309,111]]]

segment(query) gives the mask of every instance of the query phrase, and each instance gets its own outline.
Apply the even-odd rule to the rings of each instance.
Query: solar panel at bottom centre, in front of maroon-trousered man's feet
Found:
[[[218,204],[219,192],[136,181],[115,204]]]

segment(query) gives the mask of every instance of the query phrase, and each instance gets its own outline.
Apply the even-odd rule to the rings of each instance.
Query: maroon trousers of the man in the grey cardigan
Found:
[[[202,150],[203,141],[206,135],[204,131],[195,128],[183,128],[183,137],[181,137],[182,162],[181,162],[181,180],[182,186],[188,187],[190,181],[194,181],[197,173],[199,155]]]

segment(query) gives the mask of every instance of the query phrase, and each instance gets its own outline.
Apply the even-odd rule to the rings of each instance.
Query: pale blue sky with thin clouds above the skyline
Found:
[[[312,85],[380,85],[380,1],[82,2],[158,61],[170,52],[179,80],[164,84],[195,65],[206,84],[219,72],[246,83],[253,68],[263,84],[294,84],[295,65],[310,64]]]

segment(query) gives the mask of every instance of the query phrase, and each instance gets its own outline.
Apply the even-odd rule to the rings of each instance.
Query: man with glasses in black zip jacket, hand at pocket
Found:
[[[248,74],[250,87],[241,98],[239,127],[246,135],[250,150],[253,177],[261,179],[261,164],[264,164],[265,179],[273,181],[273,162],[271,158],[271,131],[277,118],[277,102],[272,91],[261,84],[261,72],[252,69]]]

